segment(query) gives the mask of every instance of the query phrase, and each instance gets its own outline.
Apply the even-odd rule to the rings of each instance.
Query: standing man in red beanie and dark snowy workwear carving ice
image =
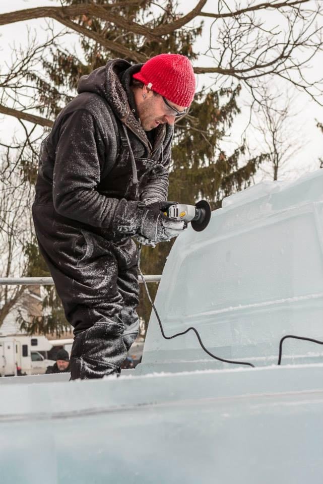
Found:
[[[187,57],[122,59],[83,76],[43,143],[33,218],[75,334],[71,378],[119,373],[138,334],[138,250],[186,226],[167,200],[175,119],[195,93]]]

